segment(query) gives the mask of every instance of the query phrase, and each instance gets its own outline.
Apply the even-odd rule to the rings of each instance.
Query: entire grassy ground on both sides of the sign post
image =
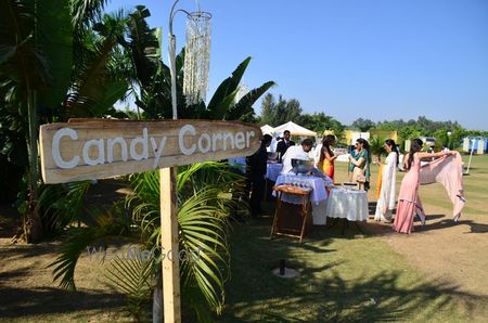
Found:
[[[467,160],[467,159],[466,159]],[[377,171],[372,167],[373,177]],[[486,322],[488,318],[488,156],[473,158],[464,177],[466,207],[460,224],[442,188],[422,186],[427,225],[411,235],[389,224],[316,227],[303,244],[270,241],[268,217],[235,224],[231,233],[231,276],[219,322]],[[402,173],[398,175],[401,181]],[[336,181],[346,180],[337,164]],[[399,185],[398,185],[399,188]],[[375,201],[374,190],[369,199]],[[59,242],[10,245],[0,209],[0,322],[128,321],[124,300],[105,285],[104,267],[84,256],[76,271],[78,292],[53,282],[47,266]],[[271,270],[285,259],[295,279]]]

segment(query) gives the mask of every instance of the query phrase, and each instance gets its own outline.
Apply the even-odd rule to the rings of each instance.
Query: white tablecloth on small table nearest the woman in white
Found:
[[[368,219],[368,195],[364,191],[332,189],[325,206],[330,218],[344,218],[349,221]]]

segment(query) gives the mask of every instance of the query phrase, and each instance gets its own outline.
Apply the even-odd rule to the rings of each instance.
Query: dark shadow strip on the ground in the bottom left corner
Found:
[[[11,273],[14,274],[14,273]],[[53,287],[15,288],[0,286],[2,318],[70,313],[84,310],[120,308],[124,297],[101,290],[67,292]]]

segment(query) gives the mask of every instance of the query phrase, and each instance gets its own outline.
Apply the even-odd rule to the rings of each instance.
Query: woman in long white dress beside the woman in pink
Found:
[[[380,191],[380,198],[376,204],[376,212],[374,220],[391,222],[391,211],[395,208],[395,189],[397,181],[397,167],[399,159],[399,151],[393,139],[385,140],[385,150],[388,152],[388,157],[382,167],[382,189]]]

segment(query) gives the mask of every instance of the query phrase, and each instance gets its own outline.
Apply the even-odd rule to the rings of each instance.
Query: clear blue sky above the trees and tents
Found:
[[[112,0],[107,10],[136,4],[146,5],[150,25],[167,35],[172,1]],[[306,113],[346,125],[424,115],[488,130],[487,0],[202,0],[200,7],[213,14],[208,96],[252,56],[244,83],[273,80],[270,92],[297,99]],[[196,2],[178,8],[194,11]],[[177,15],[178,48],[184,26]]]

